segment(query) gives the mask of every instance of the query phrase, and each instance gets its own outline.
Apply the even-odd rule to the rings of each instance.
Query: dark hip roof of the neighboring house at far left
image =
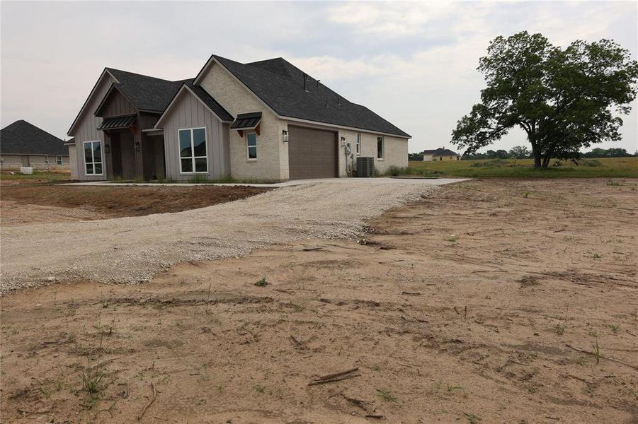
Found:
[[[68,156],[69,149],[63,140],[21,119],[0,130],[0,153]]]

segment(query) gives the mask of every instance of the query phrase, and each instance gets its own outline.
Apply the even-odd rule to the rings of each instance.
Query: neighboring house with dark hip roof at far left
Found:
[[[69,169],[69,152],[64,141],[21,119],[0,130],[0,165],[3,170]]]

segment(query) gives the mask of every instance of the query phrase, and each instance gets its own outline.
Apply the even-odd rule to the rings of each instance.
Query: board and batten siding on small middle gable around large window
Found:
[[[161,122],[161,128],[164,129],[166,178],[188,180],[195,175],[180,173],[178,130],[201,127],[206,129],[208,172],[196,175],[217,179],[229,174],[228,137],[224,136],[222,121],[188,90],[183,90]]]

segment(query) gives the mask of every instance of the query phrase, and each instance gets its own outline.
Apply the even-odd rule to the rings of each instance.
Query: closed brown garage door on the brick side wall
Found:
[[[336,133],[289,126],[288,161],[290,179],[336,177]]]

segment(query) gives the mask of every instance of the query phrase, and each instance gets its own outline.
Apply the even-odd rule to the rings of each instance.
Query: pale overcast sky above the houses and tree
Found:
[[[12,2],[1,1],[1,126],[25,119],[63,138],[105,66],[177,80],[210,54],[284,57],[412,135],[410,151],[450,147],[484,86],[478,59],[497,35],[555,45],[611,38],[637,57],[635,1]],[[624,139],[636,151],[637,107]],[[491,148],[525,144],[513,131]]]

